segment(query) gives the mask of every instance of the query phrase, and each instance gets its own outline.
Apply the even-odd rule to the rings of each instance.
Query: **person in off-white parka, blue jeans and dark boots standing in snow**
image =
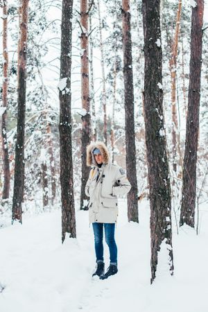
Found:
[[[94,243],[97,268],[94,275],[107,279],[118,272],[117,247],[114,239],[115,224],[118,216],[117,196],[130,191],[130,182],[122,168],[110,164],[107,147],[103,142],[87,146],[87,166],[92,166],[85,193],[89,196],[89,223],[94,230]],[[110,266],[104,271],[103,227],[105,241],[110,251]],[[105,272],[105,274],[104,274]]]

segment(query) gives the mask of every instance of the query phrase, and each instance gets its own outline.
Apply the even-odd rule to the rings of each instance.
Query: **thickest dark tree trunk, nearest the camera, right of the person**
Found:
[[[173,274],[171,186],[164,135],[162,47],[159,0],[143,0],[144,110],[148,180],[150,186],[151,282],[155,279],[158,252],[166,243],[168,266]],[[159,41],[158,41],[159,40]]]

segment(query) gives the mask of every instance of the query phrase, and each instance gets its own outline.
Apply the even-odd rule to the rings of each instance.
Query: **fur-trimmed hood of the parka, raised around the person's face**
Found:
[[[96,141],[87,146],[87,166],[98,166],[96,160],[93,155],[93,151],[95,148],[99,148],[101,150],[103,156],[103,164],[109,164],[110,156],[105,144],[101,141]]]

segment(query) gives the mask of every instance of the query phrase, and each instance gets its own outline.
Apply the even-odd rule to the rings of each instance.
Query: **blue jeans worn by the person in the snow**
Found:
[[[105,241],[110,251],[110,263],[117,264],[117,246],[114,239],[115,223],[92,223],[94,230],[94,247],[96,262],[104,261],[103,258],[103,225],[105,228]]]

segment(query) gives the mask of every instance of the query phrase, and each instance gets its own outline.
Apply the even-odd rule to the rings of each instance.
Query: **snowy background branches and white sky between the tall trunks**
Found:
[[[18,44],[18,1],[8,3],[8,55],[9,55],[9,83],[8,83],[8,144],[10,153],[10,171],[14,171],[15,153],[15,129],[17,123],[17,44]],[[171,178],[177,182],[175,191],[175,209],[180,201],[180,179],[182,168],[178,166],[175,175],[172,170],[171,150],[173,120],[171,114],[171,40],[173,40],[175,30],[175,18],[177,13],[177,1],[162,1],[162,51],[163,51],[163,92],[164,92],[164,115],[166,124],[166,138],[169,154]],[[72,33],[72,64],[71,64],[71,110],[73,114],[73,166],[74,170],[74,190],[76,202],[79,200],[80,192],[80,132],[82,105],[80,101],[80,25],[78,23],[79,2],[73,6],[73,33]],[[91,29],[89,36],[89,49],[92,51],[90,66],[94,75],[94,90],[92,95],[92,105],[96,111],[96,128],[98,139],[103,140],[103,77],[101,68],[101,40],[99,35],[99,19],[96,4],[91,10]],[[205,26],[207,25],[207,3],[205,1]],[[26,143],[25,143],[25,209],[30,200],[35,200],[37,211],[41,211],[42,205],[42,163],[49,164],[49,146],[46,140],[47,126],[50,124],[51,139],[53,141],[56,200],[60,202],[59,184],[59,99],[58,83],[60,80],[60,21],[61,3],[60,1],[31,1],[29,6],[28,20],[28,62],[27,62],[27,91],[26,91]],[[102,1],[101,3],[101,24],[103,35],[103,58],[105,64],[105,84],[107,103],[107,135],[110,144],[110,129],[114,118],[115,136],[115,161],[125,168],[125,120],[124,94],[123,94],[123,51],[121,35],[121,6],[118,1]],[[190,1],[182,4],[182,17],[180,23],[180,35],[177,55],[177,119],[180,135],[180,153],[177,160],[184,153],[185,124],[187,112],[187,92],[189,86],[189,58],[190,58],[190,25],[191,25],[191,5]],[[2,24],[1,24],[2,26]],[[141,15],[141,3],[132,1],[131,3],[131,27],[132,27],[132,58],[134,73],[135,92],[135,136],[137,148],[137,182],[139,194],[147,191],[147,164],[145,155],[144,139],[144,112],[142,103],[142,90],[144,85],[144,37]],[[89,33],[91,31],[89,30]],[[1,31],[2,34],[2,31]],[[203,34],[202,46],[202,84],[200,99],[200,136],[198,144],[198,189],[202,184],[207,163],[207,31]],[[116,63],[115,63],[116,62]],[[1,64],[3,64],[3,54],[1,53]],[[115,71],[116,64],[116,71]],[[0,70],[2,70],[2,65]],[[114,73],[116,73],[116,101],[114,101]],[[114,108],[114,116],[113,116]],[[48,130],[49,131],[49,130]],[[1,162],[1,173],[2,173]],[[51,180],[50,170],[47,172],[48,180]],[[3,177],[1,174],[1,188],[3,187]],[[11,187],[12,189],[12,187]],[[51,187],[46,187],[51,198]],[[2,190],[1,190],[2,192]]]

